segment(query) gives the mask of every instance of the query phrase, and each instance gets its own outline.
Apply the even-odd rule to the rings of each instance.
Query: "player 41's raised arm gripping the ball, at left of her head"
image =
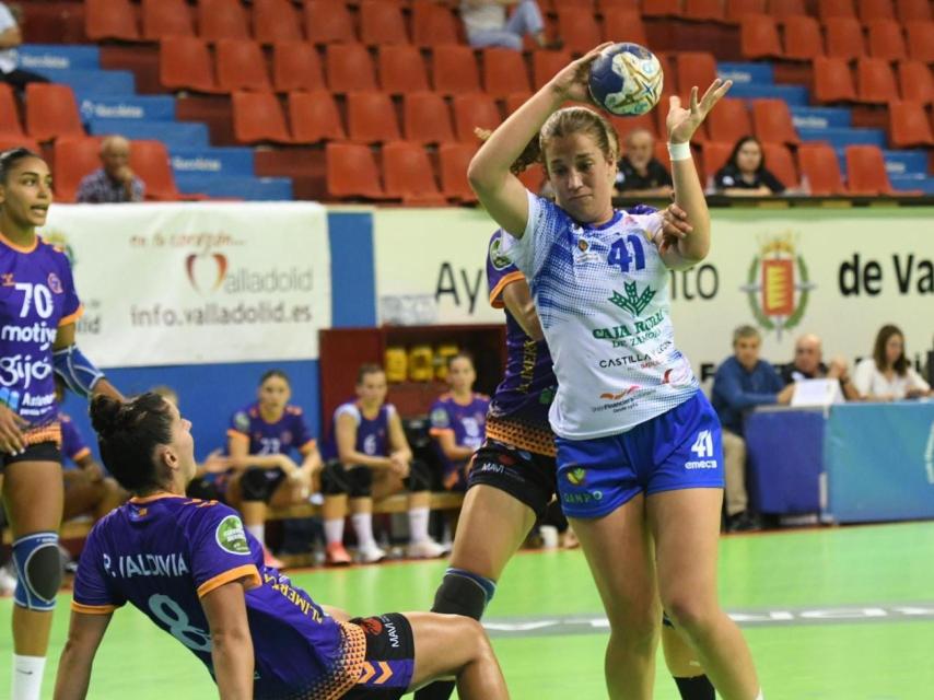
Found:
[[[522,237],[528,222],[528,199],[525,186],[510,167],[564,102],[589,102],[589,66],[606,46],[598,46],[554,75],[493,131],[470,161],[467,178],[480,202],[497,223],[517,238]]]

